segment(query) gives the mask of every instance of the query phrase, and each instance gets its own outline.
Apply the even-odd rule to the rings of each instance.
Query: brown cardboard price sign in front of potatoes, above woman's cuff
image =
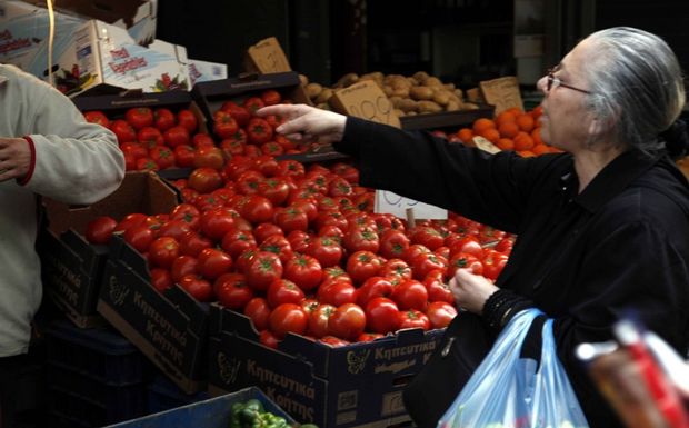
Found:
[[[400,128],[400,119],[385,92],[371,80],[334,91],[328,101],[333,110]]]

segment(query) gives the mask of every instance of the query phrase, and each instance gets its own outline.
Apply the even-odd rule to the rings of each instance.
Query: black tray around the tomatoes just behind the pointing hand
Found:
[[[279,91],[283,99],[290,99],[294,103],[311,104],[299,81],[299,74],[293,71],[272,74],[250,73],[241,78],[200,82],[193,86],[191,97],[208,118],[208,128],[212,129],[213,113],[224,101],[232,100],[241,104],[247,98],[260,96],[267,89]]]

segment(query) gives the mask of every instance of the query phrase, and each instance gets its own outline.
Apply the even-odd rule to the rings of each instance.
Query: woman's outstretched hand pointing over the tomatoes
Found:
[[[317,140],[321,145],[340,141],[347,117],[307,104],[278,104],[259,109],[256,115],[278,115],[287,121],[276,130],[294,140]]]

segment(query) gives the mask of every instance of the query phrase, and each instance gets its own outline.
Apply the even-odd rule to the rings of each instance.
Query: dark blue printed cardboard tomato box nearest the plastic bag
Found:
[[[443,330],[401,330],[332,348],[288,335],[264,347],[250,320],[211,305],[209,392],[258,386],[300,422],[387,428],[408,422],[402,389],[430,358]]]

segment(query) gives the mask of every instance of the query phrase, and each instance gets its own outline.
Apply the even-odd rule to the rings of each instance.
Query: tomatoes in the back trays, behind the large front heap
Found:
[[[212,135],[200,130],[191,109],[173,112],[166,107],[136,107],[119,118],[109,118],[101,110],[87,111],[84,117],[114,132],[128,171],[221,168],[226,159],[234,155],[278,156],[308,149],[273,132],[280,125],[277,117],[254,117],[259,108],[279,102],[288,100],[273,89],[241,102],[226,101],[213,113]]]

